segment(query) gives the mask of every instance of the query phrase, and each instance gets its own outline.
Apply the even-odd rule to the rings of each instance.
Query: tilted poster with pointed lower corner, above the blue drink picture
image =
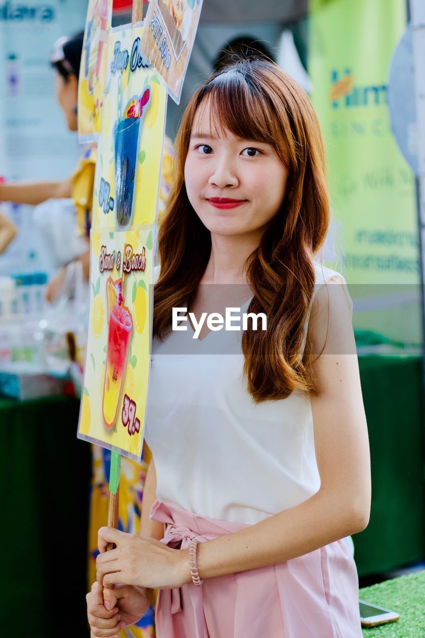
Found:
[[[198,29],[202,0],[151,0],[142,51],[180,103],[181,89]]]

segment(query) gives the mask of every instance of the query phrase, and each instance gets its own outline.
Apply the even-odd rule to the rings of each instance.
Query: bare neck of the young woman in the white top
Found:
[[[259,235],[211,234],[211,255],[200,283],[246,284],[246,260],[259,241]]]

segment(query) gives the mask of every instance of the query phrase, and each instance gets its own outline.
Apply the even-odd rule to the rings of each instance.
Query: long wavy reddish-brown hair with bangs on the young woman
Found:
[[[315,381],[302,355],[304,323],[315,286],[313,255],[329,224],[325,154],[307,94],[276,64],[240,61],[216,73],[193,95],[175,140],[175,183],[161,223],[161,272],[154,287],[154,334],[170,329],[172,307],[190,307],[211,253],[211,235],[186,194],[184,163],[195,112],[211,105],[218,131],[271,144],[288,170],[280,211],[246,263],[253,291],[249,312],[267,315],[267,330],[244,330],[244,376],[255,403],[311,391]]]

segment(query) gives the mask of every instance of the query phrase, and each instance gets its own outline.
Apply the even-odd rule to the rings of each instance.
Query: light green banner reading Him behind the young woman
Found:
[[[387,106],[405,3],[310,4],[311,99],[325,140],[332,205],[324,259],[354,285],[352,297],[361,298],[357,329],[419,343],[415,181],[392,135]]]

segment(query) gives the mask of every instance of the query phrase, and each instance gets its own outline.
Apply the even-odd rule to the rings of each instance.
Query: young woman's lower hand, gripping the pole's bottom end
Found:
[[[149,609],[153,590],[129,585],[103,589],[94,582],[87,594],[87,618],[91,638],[114,638],[126,625],[134,625]]]

